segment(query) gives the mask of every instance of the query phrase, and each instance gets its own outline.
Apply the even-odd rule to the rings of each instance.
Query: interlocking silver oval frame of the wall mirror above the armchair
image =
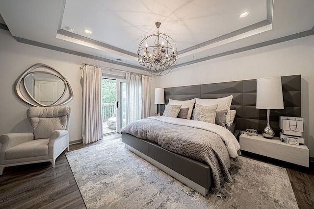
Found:
[[[44,69],[47,69],[50,71],[35,71],[35,69],[37,69],[37,68],[44,68]],[[64,91],[63,91],[62,95],[60,96],[60,98],[58,98],[55,102],[53,102],[50,105],[44,105],[44,104],[41,104],[40,102],[36,101],[36,99],[29,93],[29,91],[26,88],[26,83],[25,83],[26,77],[28,77],[31,74],[36,74],[36,73],[45,73],[45,74],[54,75],[54,76],[60,78],[64,83]],[[24,88],[21,89],[22,81],[23,81],[23,85],[24,85],[23,87]],[[22,99],[27,104],[30,104],[30,105],[36,106],[36,107],[61,106],[61,105],[67,104],[68,102],[70,102],[73,99],[73,91],[72,91],[72,88],[71,88],[69,82],[67,81],[67,79],[57,70],[53,69],[52,67],[50,67],[48,65],[42,64],[42,63],[37,63],[37,64],[31,66],[29,69],[27,69],[18,78],[18,80],[16,82],[15,90],[16,90],[17,96],[20,97],[20,99]],[[69,97],[67,99],[61,101],[67,91],[69,92]],[[31,99],[31,101],[29,101],[27,98],[25,98],[25,96],[23,95],[22,92],[24,92],[24,93],[26,92],[28,94],[29,98]]]

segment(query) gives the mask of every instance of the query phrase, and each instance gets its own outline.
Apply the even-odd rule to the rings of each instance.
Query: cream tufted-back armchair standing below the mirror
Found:
[[[67,148],[71,107],[31,107],[27,118],[34,133],[0,136],[0,175],[4,167],[51,162]]]

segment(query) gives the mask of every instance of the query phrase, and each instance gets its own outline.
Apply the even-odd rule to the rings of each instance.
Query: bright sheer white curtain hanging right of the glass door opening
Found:
[[[141,119],[142,113],[142,76],[126,73],[127,124]]]

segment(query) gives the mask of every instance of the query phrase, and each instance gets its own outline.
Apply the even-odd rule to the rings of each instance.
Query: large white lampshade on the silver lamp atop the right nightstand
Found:
[[[256,83],[257,109],[285,109],[281,77],[257,79]]]

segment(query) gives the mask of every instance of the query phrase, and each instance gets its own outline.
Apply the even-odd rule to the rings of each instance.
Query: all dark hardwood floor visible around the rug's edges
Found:
[[[70,145],[70,151],[120,137],[114,134],[89,145]],[[243,155],[286,167],[299,208],[314,208],[314,163],[307,169],[249,153]],[[0,176],[0,209],[39,208],[86,208],[64,153],[57,158],[54,168],[51,163],[6,167]]]

